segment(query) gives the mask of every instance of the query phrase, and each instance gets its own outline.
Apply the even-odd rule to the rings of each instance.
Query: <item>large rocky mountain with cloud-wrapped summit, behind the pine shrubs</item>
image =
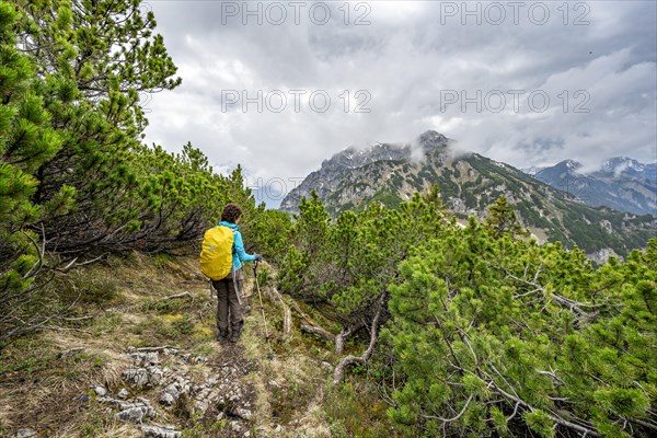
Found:
[[[438,184],[443,204],[459,218],[484,218],[487,207],[505,195],[539,241],[561,241],[569,247],[577,244],[600,262],[611,254],[623,256],[644,247],[657,234],[653,216],[593,208],[577,193],[556,189],[538,178],[539,173],[549,175],[552,168],[533,177],[479,153],[456,152],[454,143],[429,130],[408,143],[347,148],[288,193],[280,209],[297,211],[301,197],[312,189],[334,216],[345,209],[360,210],[372,201],[395,208],[414,193]],[[619,168],[612,164],[615,172]]]

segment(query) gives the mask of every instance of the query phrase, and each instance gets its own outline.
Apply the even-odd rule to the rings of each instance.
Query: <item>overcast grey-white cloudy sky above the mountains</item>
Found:
[[[517,168],[655,162],[656,4],[150,0],[183,84],[145,96],[147,141],[242,164],[273,206],[346,147],[427,129]]]

